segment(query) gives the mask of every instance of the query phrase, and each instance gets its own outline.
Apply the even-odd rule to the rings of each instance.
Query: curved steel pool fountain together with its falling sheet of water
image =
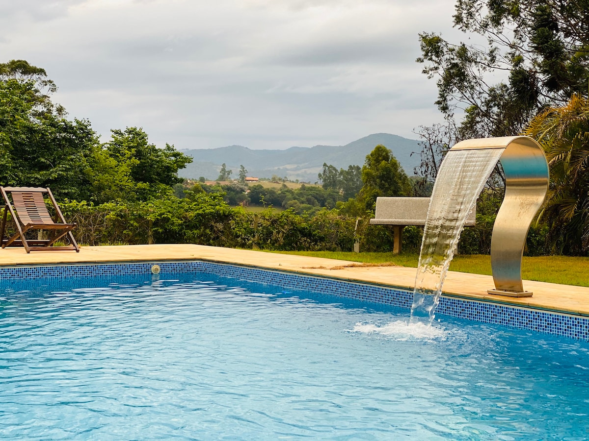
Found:
[[[491,236],[495,289],[489,293],[531,296],[521,280],[525,239],[548,191],[548,163],[541,146],[527,136],[468,139],[452,147],[438,172],[415,277],[411,318],[434,319],[434,310],[468,213],[501,161],[505,198]]]

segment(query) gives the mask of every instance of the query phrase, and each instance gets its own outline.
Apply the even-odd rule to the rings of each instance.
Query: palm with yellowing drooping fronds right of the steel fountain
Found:
[[[525,131],[541,143],[550,166],[550,188],[540,217],[550,239],[566,253],[589,253],[589,99],[573,96],[548,108]]]

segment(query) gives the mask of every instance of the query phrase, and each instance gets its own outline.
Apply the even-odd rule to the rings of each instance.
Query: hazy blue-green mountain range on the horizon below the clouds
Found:
[[[408,176],[419,165],[421,147],[415,139],[402,138],[389,133],[375,133],[343,146],[316,145],[315,147],[291,147],[286,150],[252,150],[240,145],[230,145],[216,149],[182,149],[192,156],[193,163],[178,171],[183,178],[216,179],[221,164],[233,171],[231,178],[237,178],[239,167],[247,169],[248,176],[271,178],[273,175],[292,181],[316,182],[317,175],[323,171],[323,163],[336,168],[347,169],[349,165],[364,164],[366,155],[382,144],[389,148],[401,163]],[[415,153],[413,153],[415,152]],[[413,153],[413,155],[411,155]]]

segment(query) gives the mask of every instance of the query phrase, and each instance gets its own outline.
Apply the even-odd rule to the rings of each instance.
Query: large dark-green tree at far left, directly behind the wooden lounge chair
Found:
[[[42,79],[12,78],[6,65],[0,69],[0,184],[51,186],[58,198],[80,197],[98,145],[90,123],[62,118],[39,92]],[[43,72],[37,75],[43,78]]]

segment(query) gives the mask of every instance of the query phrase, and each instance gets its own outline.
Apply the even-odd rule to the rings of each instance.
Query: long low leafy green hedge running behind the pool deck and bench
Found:
[[[109,202],[98,206],[86,202],[60,204],[65,218],[76,222],[78,242],[84,245],[137,245],[143,243],[197,243],[229,248],[273,250],[351,251],[355,240],[365,252],[391,252],[392,228],[371,226],[369,218],[341,216],[320,211],[301,216],[271,209],[252,213],[231,208],[215,193],[191,199],[161,199],[141,203]],[[462,254],[485,254],[491,249],[494,215],[478,215],[477,226],[466,228],[458,250]],[[423,229],[403,230],[403,250],[419,252]],[[547,228],[532,228],[526,253],[550,253]]]

